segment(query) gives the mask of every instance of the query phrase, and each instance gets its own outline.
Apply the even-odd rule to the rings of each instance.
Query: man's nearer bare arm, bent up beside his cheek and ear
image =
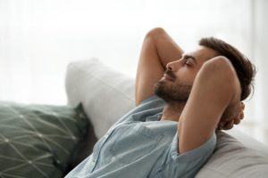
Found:
[[[223,111],[236,112],[239,101],[239,79],[230,61],[222,56],[206,61],[180,115],[178,151],[193,150],[206,142]]]

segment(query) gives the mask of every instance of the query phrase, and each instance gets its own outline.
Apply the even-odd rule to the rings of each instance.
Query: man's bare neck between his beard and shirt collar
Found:
[[[176,103],[175,105],[167,103],[163,107],[163,115],[160,120],[172,120],[179,122],[180,114],[184,106],[185,103]]]

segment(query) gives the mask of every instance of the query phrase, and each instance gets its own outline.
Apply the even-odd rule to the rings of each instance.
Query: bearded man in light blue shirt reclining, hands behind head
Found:
[[[230,44],[203,38],[183,53],[162,28],[140,53],[136,105],[67,177],[194,177],[215,147],[215,131],[243,118],[255,68]]]

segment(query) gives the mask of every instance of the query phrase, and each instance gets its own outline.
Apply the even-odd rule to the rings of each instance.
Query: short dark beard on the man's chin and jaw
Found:
[[[155,95],[166,103],[176,105],[186,103],[191,92],[192,85],[180,85],[173,82],[171,85],[160,80],[155,84]]]

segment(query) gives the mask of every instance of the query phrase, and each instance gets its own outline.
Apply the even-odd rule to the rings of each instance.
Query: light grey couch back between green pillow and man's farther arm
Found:
[[[135,107],[133,81],[96,58],[75,61],[67,69],[68,102],[72,105],[82,102],[99,139]]]

